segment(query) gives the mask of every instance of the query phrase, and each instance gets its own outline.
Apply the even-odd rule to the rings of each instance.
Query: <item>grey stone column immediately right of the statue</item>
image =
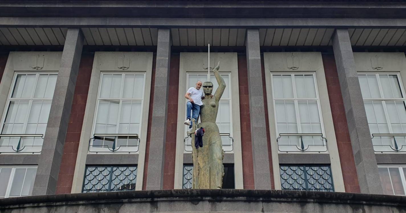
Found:
[[[246,39],[254,185],[257,190],[270,190],[271,177],[266,138],[265,106],[263,102],[259,30],[248,29]]]

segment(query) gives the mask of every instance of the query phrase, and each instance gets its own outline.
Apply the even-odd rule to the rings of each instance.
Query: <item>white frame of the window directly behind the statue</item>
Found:
[[[229,82],[228,82],[228,84],[227,85],[231,85],[231,72],[220,72],[219,73],[220,75],[228,75],[229,76]],[[207,72],[186,72],[186,85],[189,85],[189,75],[207,75]],[[216,80],[216,79],[214,79],[214,78],[212,78],[212,75],[214,75],[213,73],[210,73],[210,80],[211,81],[213,81],[213,80]],[[230,104],[230,111],[229,111],[229,116],[230,116],[230,137],[231,138],[233,138],[233,115],[232,115],[232,111],[233,111],[233,102],[232,102],[232,90],[231,90],[231,87],[228,87],[229,88],[229,98],[220,98],[220,100],[219,100],[219,106],[218,106],[218,111],[220,111],[220,101],[222,101],[222,100],[227,100],[227,101],[229,101],[229,104]],[[186,89],[189,89],[189,88],[186,88]],[[227,89],[227,87],[226,87],[226,89]],[[213,91],[213,92],[216,92],[216,91]],[[213,93],[213,95],[214,95],[214,93]],[[185,99],[185,106],[186,106],[186,103],[188,102],[188,100],[186,100]],[[217,112],[217,115],[218,115],[218,112]],[[186,118],[186,111],[185,111],[185,118]],[[199,117],[199,121],[200,121],[200,117]],[[185,135],[185,138],[188,136],[187,134],[186,134],[186,132],[188,131],[188,126],[186,126],[185,125],[185,128],[184,128],[184,135]],[[220,133],[224,133],[224,132],[220,132]],[[231,140],[231,138],[230,138],[230,140]],[[231,143],[232,143],[232,141],[231,141]],[[185,149],[184,149],[184,153],[191,153],[192,152],[192,144],[185,144],[184,145],[184,147],[185,147]],[[223,150],[224,150],[224,152],[227,152],[227,153],[233,153],[234,152],[234,144],[231,144],[231,146],[228,146],[228,145],[226,145],[226,146],[224,146],[223,144],[222,144],[222,148],[223,148]],[[229,149],[224,149],[225,147],[230,147]],[[190,149],[190,151],[188,150],[188,149]]]

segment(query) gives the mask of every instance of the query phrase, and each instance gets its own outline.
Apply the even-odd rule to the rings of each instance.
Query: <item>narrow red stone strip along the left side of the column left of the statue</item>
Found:
[[[145,147],[143,190],[145,190],[147,187],[147,178],[148,178],[147,171],[148,171],[148,158],[149,158],[149,143],[151,142],[151,119],[152,119],[152,106],[153,106],[153,92],[154,92],[154,86],[155,86],[155,64],[156,64],[156,53],[154,53],[153,58],[152,58],[151,92],[150,92],[149,110],[148,110],[148,127],[147,127],[147,142],[146,142],[146,147]]]

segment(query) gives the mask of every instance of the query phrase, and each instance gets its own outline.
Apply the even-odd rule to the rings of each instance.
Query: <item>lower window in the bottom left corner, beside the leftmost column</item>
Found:
[[[0,198],[30,196],[37,166],[0,166]]]

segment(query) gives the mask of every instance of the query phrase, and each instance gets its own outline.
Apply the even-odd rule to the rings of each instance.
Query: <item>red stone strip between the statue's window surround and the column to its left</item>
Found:
[[[171,68],[169,71],[169,94],[178,94],[179,91],[179,55],[171,55]],[[168,100],[168,119],[166,121],[165,165],[163,189],[173,189],[175,183],[175,155],[176,155],[176,129],[177,129],[178,99]],[[183,153],[179,153],[183,154]]]

